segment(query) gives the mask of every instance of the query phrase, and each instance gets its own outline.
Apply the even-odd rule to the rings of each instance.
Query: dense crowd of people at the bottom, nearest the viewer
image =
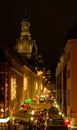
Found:
[[[28,122],[19,121],[18,125],[14,125],[14,130],[46,130],[47,121],[46,113],[40,112],[38,116],[33,116]]]

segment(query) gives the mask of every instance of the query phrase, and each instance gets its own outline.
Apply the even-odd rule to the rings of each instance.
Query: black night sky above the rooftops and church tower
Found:
[[[61,50],[77,22],[76,0],[3,0],[0,35],[13,44],[20,34],[20,20],[27,12],[31,35],[46,66],[55,74]]]

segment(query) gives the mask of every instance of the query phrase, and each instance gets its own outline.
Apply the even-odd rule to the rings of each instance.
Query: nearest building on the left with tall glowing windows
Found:
[[[0,127],[9,129],[10,116],[17,111],[22,95],[22,63],[4,43],[0,46]],[[20,81],[20,82],[18,82]],[[20,97],[20,98],[19,98]]]

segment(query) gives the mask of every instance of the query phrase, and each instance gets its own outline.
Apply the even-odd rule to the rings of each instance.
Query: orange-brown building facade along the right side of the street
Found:
[[[61,111],[77,125],[77,39],[68,40],[56,68],[56,98]]]

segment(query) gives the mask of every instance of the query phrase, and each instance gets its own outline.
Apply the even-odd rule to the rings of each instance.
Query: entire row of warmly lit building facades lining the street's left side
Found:
[[[22,64],[7,45],[0,46],[0,128],[10,129],[13,116],[26,99],[41,92],[42,80],[29,67]],[[11,124],[12,125],[12,124]]]

